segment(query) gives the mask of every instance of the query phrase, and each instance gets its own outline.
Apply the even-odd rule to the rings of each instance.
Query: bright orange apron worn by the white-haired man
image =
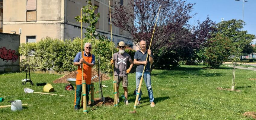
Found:
[[[92,54],[91,54],[91,57],[86,57],[86,56],[84,56],[84,51],[83,51],[82,55],[86,62],[91,63]],[[84,63],[83,68],[84,68],[84,80],[86,80],[87,85],[91,85],[91,67]],[[77,69],[75,84],[76,85],[82,84],[82,68],[80,68],[79,65],[78,65],[78,69]]]

